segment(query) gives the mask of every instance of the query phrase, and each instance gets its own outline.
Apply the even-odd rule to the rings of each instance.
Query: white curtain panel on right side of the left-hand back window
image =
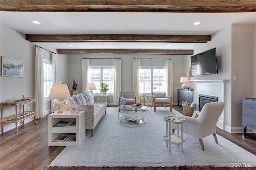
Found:
[[[114,106],[118,106],[120,92],[121,92],[121,59],[114,59],[114,96],[113,96]]]

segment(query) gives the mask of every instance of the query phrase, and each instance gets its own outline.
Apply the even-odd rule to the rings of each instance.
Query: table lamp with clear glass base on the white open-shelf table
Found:
[[[52,102],[52,109],[55,109],[55,105],[59,104],[59,111],[57,113],[63,113],[63,110],[67,106],[68,102],[65,100],[66,98],[70,98],[70,93],[68,91],[68,85],[63,83],[55,83],[52,85],[52,89],[49,99],[55,99]]]

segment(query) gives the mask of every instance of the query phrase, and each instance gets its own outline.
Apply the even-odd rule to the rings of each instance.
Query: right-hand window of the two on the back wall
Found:
[[[140,94],[152,94],[152,92],[166,92],[165,66],[141,66],[140,78],[147,81],[140,82]],[[143,86],[144,85],[144,86]]]

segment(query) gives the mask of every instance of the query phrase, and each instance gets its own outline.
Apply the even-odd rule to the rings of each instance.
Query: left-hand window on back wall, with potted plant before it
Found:
[[[90,66],[89,82],[94,82],[95,94],[100,94],[100,83],[109,84],[108,94],[114,94],[114,67],[113,66]]]

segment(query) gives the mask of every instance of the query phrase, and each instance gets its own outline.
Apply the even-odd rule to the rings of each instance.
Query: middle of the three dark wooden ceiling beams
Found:
[[[26,34],[26,40],[36,43],[56,42],[158,42],[158,43],[207,43],[210,35],[138,35],[138,34],[86,34],[49,35]]]

